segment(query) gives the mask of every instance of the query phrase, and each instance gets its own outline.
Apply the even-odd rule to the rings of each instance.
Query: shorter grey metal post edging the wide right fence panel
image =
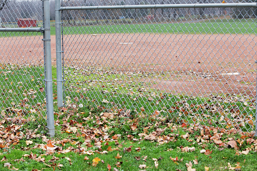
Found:
[[[55,1],[56,9],[56,69],[57,69],[57,105],[63,106],[63,78],[62,78],[62,44],[61,44],[61,3]]]

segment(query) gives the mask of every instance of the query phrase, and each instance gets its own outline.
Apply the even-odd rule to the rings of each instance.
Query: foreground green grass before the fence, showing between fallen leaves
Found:
[[[94,122],[97,117],[100,117],[100,112],[97,108],[90,109],[90,106],[84,106],[83,108],[79,108],[78,110],[68,109],[66,112],[60,112],[62,113],[59,116],[55,115],[55,119],[60,121],[58,125],[56,125],[56,137],[54,138],[57,141],[62,141],[63,139],[69,139],[71,142],[78,142],[76,145],[73,145],[72,143],[66,143],[65,146],[62,146],[60,143],[56,144],[58,146],[62,146],[63,149],[68,149],[70,147],[73,147],[75,149],[79,149],[81,147],[86,147],[86,151],[92,150],[96,151],[98,150],[97,147],[94,146],[94,142],[98,141],[97,138],[100,138],[96,136],[95,140],[91,139],[91,147],[83,146],[83,143],[88,140],[85,139],[85,137],[77,137],[76,134],[70,134],[65,133],[65,129],[67,127],[67,124],[65,124],[64,119],[68,119],[68,123],[71,123],[70,121],[76,121],[78,123],[83,123],[82,126],[86,128],[86,130],[101,130],[104,128],[104,125],[99,126],[95,124]],[[91,112],[91,114],[89,114]],[[73,114],[72,114],[73,113]],[[84,118],[88,118],[85,120]],[[101,120],[101,119],[100,119]],[[228,162],[231,164],[231,166],[235,167],[236,164],[239,164],[241,166],[241,170],[255,170],[257,168],[255,162],[255,158],[257,157],[257,153],[250,151],[247,155],[241,154],[236,155],[236,152],[238,150],[235,150],[234,148],[221,148],[218,145],[215,145],[213,142],[204,142],[198,144],[196,142],[196,138],[200,136],[200,129],[193,129],[191,132],[188,131],[187,128],[182,127],[176,127],[175,130],[171,131],[171,128],[174,129],[173,126],[168,126],[164,122],[160,122],[159,120],[151,120],[151,119],[142,119],[138,118],[137,120],[130,120],[128,118],[122,118],[118,117],[115,119],[115,123],[112,122],[112,120],[103,121],[105,124],[109,127],[107,130],[107,133],[109,133],[110,137],[114,136],[116,134],[121,134],[121,137],[114,141],[103,141],[101,142],[101,150],[104,151],[108,150],[108,147],[111,146],[112,149],[116,149],[114,151],[109,151],[107,154],[98,154],[97,152],[93,152],[92,155],[83,154],[83,152],[68,152],[66,154],[59,153],[56,151],[54,154],[46,154],[45,150],[42,150],[40,148],[34,148],[37,144],[46,144],[42,141],[41,138],[30,138],[29,140],[32,140],[33,143],[31,145],[26,145],[25,141],[27,140],[25,137],[19,141],[19,144],[17,145],[10,145],[10,148],[0,148],[0,159],[2,159],[4,156],[6,157],[5,160],[0,162],[0,169],[1,170],[9,170],[7,167],[4,167],[4,163],[10,162],[15,168],[19,168],[19,170],[32,170],[32,169],[38,169],[38,170],[107,170],[107,165],[111,165],[111,170],[114,169],[114,167],[118,168],[119,170],[139,170],[140,164],[146,164],[147,168],[146,170],[186,170],[186,163],[189,163],[191,161],[192,168],[195,168],[196,170],[204,170],[204,167],[209,167],[210,170],[220,170],[221,167],[225,168],[228,167]],[[123,129],[120,129],[123,124],[127,123],[138,123],[138,127],[135,131],[124,131]],[[147,131],[151,133],[152,131],[157,131],[157,128],[163,129],[167,128],[167,131],[160,134],[159,137],[165,137],[165,136],[173,136],[175,134],[178,134],[179,136],[175,136],[174,141],[164,143],[160,145],[156,141],[147,141],[147,140],[140,140],[138,134],[143,132],[144,127],[147,127],[149,125],[152,125],[150,129]],[[70,126],[75,126],[70,124]],[[168,126],[168,127],[167,127]],[[8,125],[3,125],[2,128],[8,127]],[[32,122],[26,123],[20,130],[17,130],[19,132],[23,132],[26,134],[29,132],[28,130],[34,130],[37,128],[36,124],[33,124]],[[8,130],[8,129],[6,129]],[[79,133],[82,133],[82,129],[79,129]],[[42,132],[43,131],[43,134]],[[105,131],[106,132],[106,131]],[[135,133],[136,134],[133,134]],[[42,128],[39,128],[36,132],[36,134],[44,135],[45,130]],[[131,134],[132,133],[132,134]],[[189,133],[188,139],[181,138],[181,135],[185,135],[186,133]],[[205,132],[206,133],[206,132]],[[88,132],[90,135],[90,133]],[[138,139],[138,141],[132,141],[128,139],[128,135],[133,136],[134,138]],[[214,135],[214,133],[210,133],[211,136]],[[230,139],[240,139],[241,135],[238,134],[224,134],[221,135],[221,140],[223,142],[228,142]],[[53,139],[52,139],[53,140]],[[190,141],[189,141],[190,140]],[[105,145],[106,142],[109,142],[108,145]],[[239,145],[239,144],[238,144]],[[131,147],[131,152],[124,151],[124,148]],[[136,148],[139,148],[140,150],[136,151]],[[181,148],[183,147],[194,147],[195,151],[192,152],[182,152]],[[239,151],[242,151],[248,147],[251,147],[249,144],[244,141],[242,146],[240,146]],[[219,149],[220,148],[220,149]],[[252,148],[252,147],[251,147]],[[22,150],[21,150],[22,149]],[[200,153],[200,150],[202,149],[209,149],[212,151],[210,155],[205,155],[204,153]],[[43,162],[35,161],[32,158],[24,157],[24,154],[30,154],[33,153],[36,155],[36,157],[41,156],[41,158],[45,158],[45,163],[51,165],[50,167],[46,166]],[[122,157],[120,159],[115,158],[117,154],[120,154]],[[58,157],[59,159],[54,162],[48,162],[52,157]],[[85,160],[85,156],[87,156],[89,159]],[[143,158],[147,156],[146,160],[144,161]],[[15,161],[15,159],[22,158],[24,161]],[[67,158],[69,157],[71,161],[68,161]],[[98,157],[102,161],[99,161],[99,163],[96,166],[92,166],[92,160]],[[135,157],[140,157],[140,160],[136,160]],[[176,163],[170,159],[178,157],[178,159],[182,159],[182,161],[177,161]],[[155,167],[154,161],[152,158],[161,158],[159,162],[158,168]],[[193,160],[197,159],[198,164],[194,164]],[[120,164],[120,167],[117,167],[117,162],[122,162]],[[62,167],[58,167],[58,164],[62,164]],[[228,168],[227,168],[228,169]]]

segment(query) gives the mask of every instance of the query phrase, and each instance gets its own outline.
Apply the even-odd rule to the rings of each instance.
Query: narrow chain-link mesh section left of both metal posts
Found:
[[[41,1],[0,1],[0,28],[42,27],[42,17]],[[0,32],[2,121],[46,125],[42,38],[40,32]]]

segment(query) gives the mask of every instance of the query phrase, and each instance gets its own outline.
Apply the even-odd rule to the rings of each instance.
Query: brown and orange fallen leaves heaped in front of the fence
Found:
[[[4,155],[1,162],[10,169],[15,168],[12,164],[15,162],[32,159],[43,163],[46,167],[57,169],[62,168],[61,159],[67,160],[70,165],[71,158],[63,156],[56,157],[57,154],[68,154],[70,152],[83,155],[84,160],[89,166],[97,167],[98,163],[105,163],[104,160],[94,157],[89,160],[88,156],[94,154],[109,155],[117,151],[115,158],[116,166],[107,164],[107,169],[118,170],[124,161],[120,161],[123,155],[121,153],[139,152],[143,150],[136,145],[127,147],[124,142],[140,144],[144,141],[156,143],[157,146],[175,143],[177,141],[186,141],[188,146],[177,146],[181,153],[202,153],[210,155],[214,147],[220,151],[226,148],[232,148],[236,155],[247,155],[249,152],[257,151],[257,140],[254,133],[238,133],[237,130],[222,131],[214,127],[201,127],[199,124],[176,125],[167,122],[166,118],[149,117],[133,118],[127,116],[125,112],[105,112],[102,108],[71,107],[60,108],[55,113],[56,136],[50,138],[45,134],[45,128],[40,125],[32,124],[31,121],[20,122],[22,124],[11,124],[11,122],[2,120],[0,124],[0,148],[1,155]],[[18,120],[16,118],[15,120]],[[15,122],[19,123],[19,122]],[[29,129],[33,128],[33,129]],[[112,144],[112,145],[110,145]],[[11,153],[12,149],[30,151],[21,158],[15,158],[12,161],[6,159],[5,154]],[[32,149],[40,149],[40,154],[32,153]],[[172,148],[167,151],[173,150]],[[46,161],[47,156],[53,156]],[[136,156],[136,160],[152,160],[155,168],[159,167],[160,158],[147,159],[147,156]],[[182,163],[183,158],[170,156],[171,161],[176,164]],[[186,162],[187,170],[195,170],[193,164],[198,164],[197,158]],[[140,169],[148,168],[146,164],[139,164]],[[240,169],[240,165],[235,167],[228,163],[229,169]],[[38,168],[40,169],[40,168]],[[178,169],[180,170],[180,169]],[[206,166],[205,170],[209,170]]]

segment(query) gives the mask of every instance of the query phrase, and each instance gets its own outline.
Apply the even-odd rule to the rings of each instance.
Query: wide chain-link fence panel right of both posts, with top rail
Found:
[[[255,3],[69,3],[61,7],[65,105],[255,130]]]

